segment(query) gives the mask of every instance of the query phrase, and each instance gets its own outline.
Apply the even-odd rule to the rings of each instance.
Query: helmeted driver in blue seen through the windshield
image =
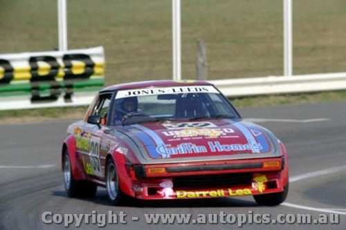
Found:
[[[137,113],[137,97],[126,97],[116,100],[115,122],[120,122],[122,117]]]

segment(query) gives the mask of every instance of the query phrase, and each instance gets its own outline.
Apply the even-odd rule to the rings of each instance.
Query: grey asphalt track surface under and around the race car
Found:
[[[0,126],[0,229],[64,229],[44,224],[42,213],[126,214],[126,224],[105,229],[236,229],[235,224],[147,224],[145,213],[338,214],[339,224],[244,224],[243,229],[346,229],[346,102],[246,108],[246,119],[265,126],[284,142],[290,165],[290,190],[284,204],[259,207],[252,197],[213,200],[134,202],[112,207],[104,189],[94,199],[67,198],[62,184],[60,148],[71,121]],[[133,218],[135,220],[133,220]],[[138,218],[138,220],[136,220]],[[51,216],[52,219],[52,216]],[[233,221],[233,220],[232,220]],[[291,219],[292,221],[292,219]],[[75,224],[75,223],[73,223]],[[71,224],[71,228],[75,228]],[[95,229],[84,224],[82,229]]]

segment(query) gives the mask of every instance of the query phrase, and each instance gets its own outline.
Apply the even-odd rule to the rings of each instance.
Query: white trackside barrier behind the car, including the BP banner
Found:
[[[209,82],[215,84],[227,97],[309,93],[346,89],[346,73]],[[88,105],[97,92],[95,87],[101,88],[103,84],[102,47],[0,55],[0,111]],[[93,90],[86,90],[88,87],[93,87]]]

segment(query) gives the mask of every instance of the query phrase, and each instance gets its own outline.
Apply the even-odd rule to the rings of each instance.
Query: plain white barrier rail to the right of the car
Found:
[[[346,89],[346,73],[222,79],[209,82],[215,84],[227,97],[308,93]]]

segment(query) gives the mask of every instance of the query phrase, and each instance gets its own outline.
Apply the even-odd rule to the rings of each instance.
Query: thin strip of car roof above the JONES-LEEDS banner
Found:
[[[116,84],[113,86],[108,86],[100,90],[100,93],[105,91],[114,91],[114,90],[125,90],[133,88],[149,88],[149,87],[167,87],[167,86],[212,86],[210,82],[204,81],[194,81],[194,80],[181,80],[181,81],[172,81],[172,80],[158,80],[158,81],[147,81],[147,82],[130,82],[126,84]]]

